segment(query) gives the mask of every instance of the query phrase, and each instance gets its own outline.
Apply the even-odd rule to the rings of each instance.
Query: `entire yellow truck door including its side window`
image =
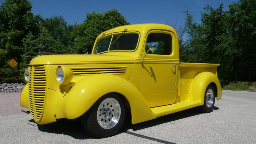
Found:
[[[142,51],[140,66],[140,92],[149,107],[157,107],[174,103],[177,85],[179,59],[173,51],[172,33],[150,31]],[[152,48],[153,51],[148,51]]]

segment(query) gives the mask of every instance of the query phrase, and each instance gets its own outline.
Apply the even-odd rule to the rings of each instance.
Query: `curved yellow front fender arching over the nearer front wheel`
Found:
[[[132,112],[132,124],[156,118],[133,84],[111,74],[97,74],[84,78],[70,89],[63,97],[66,99],[65,104],[60,105],[65,105],[66,118],[75,119],[82,116],[101,96],[109,92],[120,93],[128,100]]]

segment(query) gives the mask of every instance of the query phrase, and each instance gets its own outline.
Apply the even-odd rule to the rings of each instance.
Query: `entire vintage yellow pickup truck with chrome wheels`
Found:
[[[20,105],[38,124],[81,119],[95,137],[188,108],[212,111],[221,99],[219,64],[181,63],[175,30],[136,24],[101,33],[92,54],[42,55],[25,70]]]

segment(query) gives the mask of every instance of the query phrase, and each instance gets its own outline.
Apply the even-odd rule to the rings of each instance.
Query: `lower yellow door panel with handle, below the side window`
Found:
[[[176,84],[175,69],[172,64],[141,64],[140,92],[145,97],[149,107],[173,103]]]

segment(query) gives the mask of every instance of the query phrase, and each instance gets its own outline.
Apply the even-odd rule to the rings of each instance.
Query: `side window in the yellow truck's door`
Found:
[[[145,48],[146,52],[149,47],[153,47],[155,49],[153,51],[149,51],[148,54],[170,55],[172,52],[172,37],[169,34],[164,33],[151,33],[148,35]]]

